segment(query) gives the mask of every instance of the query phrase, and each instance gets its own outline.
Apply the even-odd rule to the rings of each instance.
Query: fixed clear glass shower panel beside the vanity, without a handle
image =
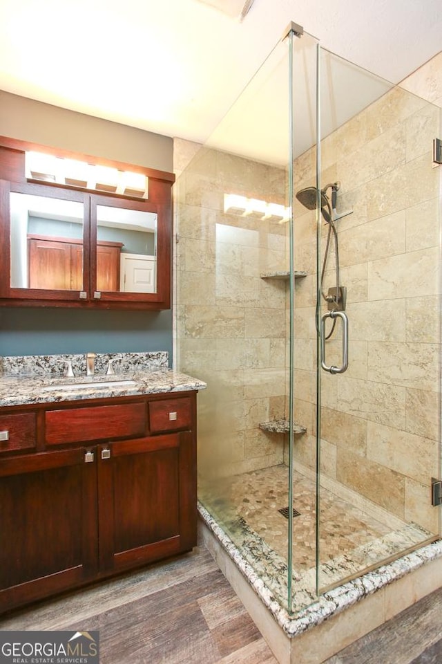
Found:
[[[299,114],[301,104],[310,113],[314,109],[314,80],[307,81],[314,44],[309,35],[294,40]],[[208,385],[198,396],[201,510],[287,608],[289,578],[294,584],[300,578],[289,571],[287,519],[290,93],[285,39],[204,145],[175,142],[180,159],[175,358],[179,369]],[[299,154],[310,149],[314,130],[311,116],[302,131],[295,129]],[[307,291],[312,283],[306,280]],[[311,290],[309,298],[313,306]],[[311,436],[311,411],[307,415]],[[308,531],[302,556],[306,571],[316,561],[314,479],[308,479],[309,514],[302,516]],[[315,590],[309,581],[304,605],[315,598]]]

